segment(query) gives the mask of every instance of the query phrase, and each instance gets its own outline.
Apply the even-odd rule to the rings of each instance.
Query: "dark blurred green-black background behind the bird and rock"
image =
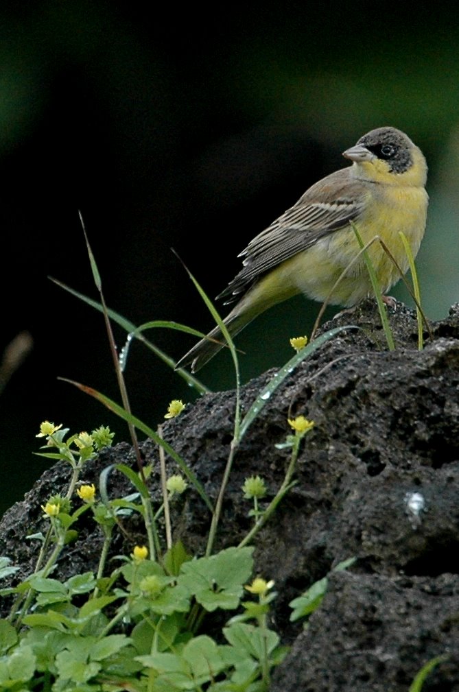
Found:
[[[237,254],[341,152],[394,125],[429,163],[429,224],[417,266],[429,318],[459,299],[459,16],[436,3],[149,6],[101,0],[0,8],[1,351],[33,349],[0,396],[0,512],[48,466],[41,421],[91,430],[122,421],[59,376],[120,400],[100,313],[49,276],[105,298],[135,324],[212,325],[178,253],[210,297]],[[393,291],[410,302],[404,290]],[[318,304],[296,298],[248,327],[243,379],[291,356]],[[224,309],[222,309],[224,310]],[[330,311],[327,314],[332,314]],[[118,347],[125,333],[116,328]],[[179,358],[194,339],[148,335]],[[233,387],[228,354],[199,373]],[[139,343],[127,364],[133,412],[155,427],[196,396]]]

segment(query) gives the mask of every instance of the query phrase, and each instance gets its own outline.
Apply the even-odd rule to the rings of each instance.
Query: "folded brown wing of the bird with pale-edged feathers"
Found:
[[[218,298],[236,300],[251,284],[280,262],[307,250],[319,239],[356,219],[362,209],[362,183],[351,178],[350,167],[323,178],[262,230],[246,247],[240,273]]]

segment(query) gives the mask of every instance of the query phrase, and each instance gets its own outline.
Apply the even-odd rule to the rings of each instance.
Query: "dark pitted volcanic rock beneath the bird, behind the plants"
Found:
[[[375,305],[364,302],[328,329],[358,325],[320,347],[280,386],[237,449],[216,548],[235,545],[251,526],[241,486],[264,477],[269,499],[280,486],[289,450],[287,417],[315,421],[298,457],[296,485],[255,539],[256,570],[276,581],[273,626],[291,644],[274,672],[276,692],[407,691],[429,659],[445,655],[423,692],[459,691],[459,308],[431,325],[417,350],[415,315],[390,309],[396,350],[388,352]],[[247,410],[269,371],[242,389]],[[234,392],[201,397],[163,426],[165,439],[186,459],[215,499],[233,435]],[[142,445],[155,462],[152,441]],[[85,467],[98,482],[108,464],[134,465],[132,449],[105,450]],[[170,468],[175,471],[174,464]],[[155,469],[157,468],[157,464]],[[46,471],[24,502],[0,524],[0,554],[33,569],[37,545],[24,536],[43,528],[40,504],[65,488],[62,465]],[[150,481],[159,501],[159,474]],[[132,491],[112,473],[111,496]],[[206,545],[209,514],[189,489],[174,504],[175,537],[190,552]],[[129,554],[139,522],[126,522],[114,553]],[[89,516],[77,543],[60,560],[60,576],[96,569],[101,537]],[[330,576],[325,599],[307,630],[289,622],[289,601],[345,558],[348,572]]]

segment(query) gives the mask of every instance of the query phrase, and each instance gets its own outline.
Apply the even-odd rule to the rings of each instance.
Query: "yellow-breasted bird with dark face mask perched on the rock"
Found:
[[[224,319],[231,338],[262,312],[298,293],[320,302],[329,298],[330,304],[345,308],[372,295],[363,257],[356,260],[360,248],[353,225],[365,244],[381,238],[402,272],[408,271],[399,231],[415,257],[429,203],[424,155],[404,132],[378,127],[361,136],[343,156],[351,165],[314,183],[240,253],[241,271],[217,296],[226,299],[225,305],[235,302]],[[368,255],[384,296],[399,279],[399,270],[377,241]],[[191,366],[197,372],[225,343],[221,329],[215,327],[180,358],[175,369]]]

